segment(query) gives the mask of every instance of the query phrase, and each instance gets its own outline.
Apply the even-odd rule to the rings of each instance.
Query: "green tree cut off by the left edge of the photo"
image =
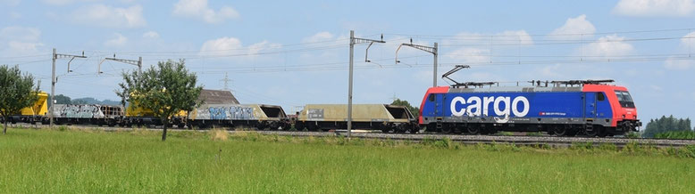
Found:
[[[20,113],[38,100],[38,85],[34,87],[34,77],[21,75],[20,68],[0,66],[0,115],[4,118],[3,134],[7,133],[10,115]]]

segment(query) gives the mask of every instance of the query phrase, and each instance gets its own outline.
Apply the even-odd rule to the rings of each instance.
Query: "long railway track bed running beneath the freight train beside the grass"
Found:
[[[44,125],[21,125],[24,127],[47,127]],[[127,127],[102,127],[96,125],[71,125],[75,128],[97,128],[105,131],[128,131],[133,128]],[[147,128],[148,130],[161,130],[161,128]],[[172,128],[172,131],[188,131],[186,129]],[[197,132],[205,132],[205,130],[197,130]],[[345,136],[346,130],[336,130],[332,132],[290,132],[290,131],[242,131],[243,133],[253,132],[266,135],[283,135],[296,137],[337,137]],[[239,131],[229,131],[229,133],[240,133]],[[594,137],[557,137],[557,136],[519,136],[519,135],[462,135],[462,134],[432,134],[432,133],[371,133],[364,131],[362,133],[352,133],[353,138],[360,139],[381,139],[395,141],[437,141],[448,139],[450,141],[462,142],[465,144],[490,144],[490,143],[510,143],[515,145],[548,145],[552,147],[570,147],[577,143],[592,143],[593,146],[609,143],[614,144],[618,148],[623,148],[630,143],[640,145],[649,145],[657,148],[683,147],[695,145],[695,140],[666,140],[666,139],[629,139],[629,138],[594,138]]]

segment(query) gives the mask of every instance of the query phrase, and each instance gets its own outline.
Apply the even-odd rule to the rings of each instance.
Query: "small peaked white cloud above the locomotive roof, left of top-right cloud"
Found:
[[[554,39],[581,39],[592,37],[595,32],[594,25],[586,20],[586,15],[582,14],[576,18],[567,19],[565,25],[550,33],[550,37]]]

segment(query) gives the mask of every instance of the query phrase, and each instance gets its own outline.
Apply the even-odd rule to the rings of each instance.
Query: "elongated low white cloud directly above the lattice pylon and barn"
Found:
[[[266,50],[281,48],[281,44],[273,44],[263,41],[249,46],[244,46],[236,37],[221,37],[214,40],[205,41],[200,48],[200,55],[205,56],[247,56],[254,57],[255,54]]]

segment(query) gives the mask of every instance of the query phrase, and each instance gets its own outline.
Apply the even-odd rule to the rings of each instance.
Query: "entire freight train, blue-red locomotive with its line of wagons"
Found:
[[[418,117],[404,106],[356,104],[352,125],[382,133],[420,133],[424,129],[429,133],[509,131],[604,137],[637,131],[641,122],[632,96],[624,86],[608,85],[610,82],[546,81],[542,85],[533,81],[530,86],[469,82],[431,87],[423,96]],[[212,94],[204,91],[208,96],[220,95],[219,91]],[[39,95],[43,98],[27,111],[11,117],[10,122],[47,124],[46,93]],[[170,120],[163,124],[151,111],[132,104],[128,109],[105,105],[56,104],[54,107],[54,122],[58,125],[247,126],[260,130],[327,131],[347,127],[347,105],[307,104],[297,115],[288,116],[280,106],[213,99],[193,111],[181,111]]]

